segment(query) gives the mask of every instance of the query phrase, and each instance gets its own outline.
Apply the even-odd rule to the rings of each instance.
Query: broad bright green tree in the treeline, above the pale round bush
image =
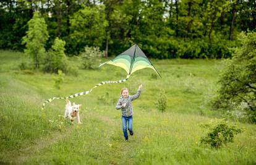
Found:
[[[104,10],[104,5],[84,6],[70,19],[72,31],[70,38],[76,54],[79,54],[86,45],[98,47],[103,45],[106,38],[105,28],[108,26]]]

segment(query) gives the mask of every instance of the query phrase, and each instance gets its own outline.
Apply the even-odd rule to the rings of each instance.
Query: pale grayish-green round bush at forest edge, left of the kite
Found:
[[[100,48],[85,46],[84,51],[80,53],[83,61],[83,69],[95,69],[95,64],[98,64],[98,60],[103,56],[104,53],[100,51]]]

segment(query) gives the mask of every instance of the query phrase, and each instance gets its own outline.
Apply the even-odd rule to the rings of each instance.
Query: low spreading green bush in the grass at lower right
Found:
[[[200,139],[200,143],[208,144],[214,148],[221,148],[223,144],[233,142],[234,135],[243,132],[242,129],[237,128],[236,125],[231,125],[224,119],[201,124],[202,127],[208,129],[205,137]]]

